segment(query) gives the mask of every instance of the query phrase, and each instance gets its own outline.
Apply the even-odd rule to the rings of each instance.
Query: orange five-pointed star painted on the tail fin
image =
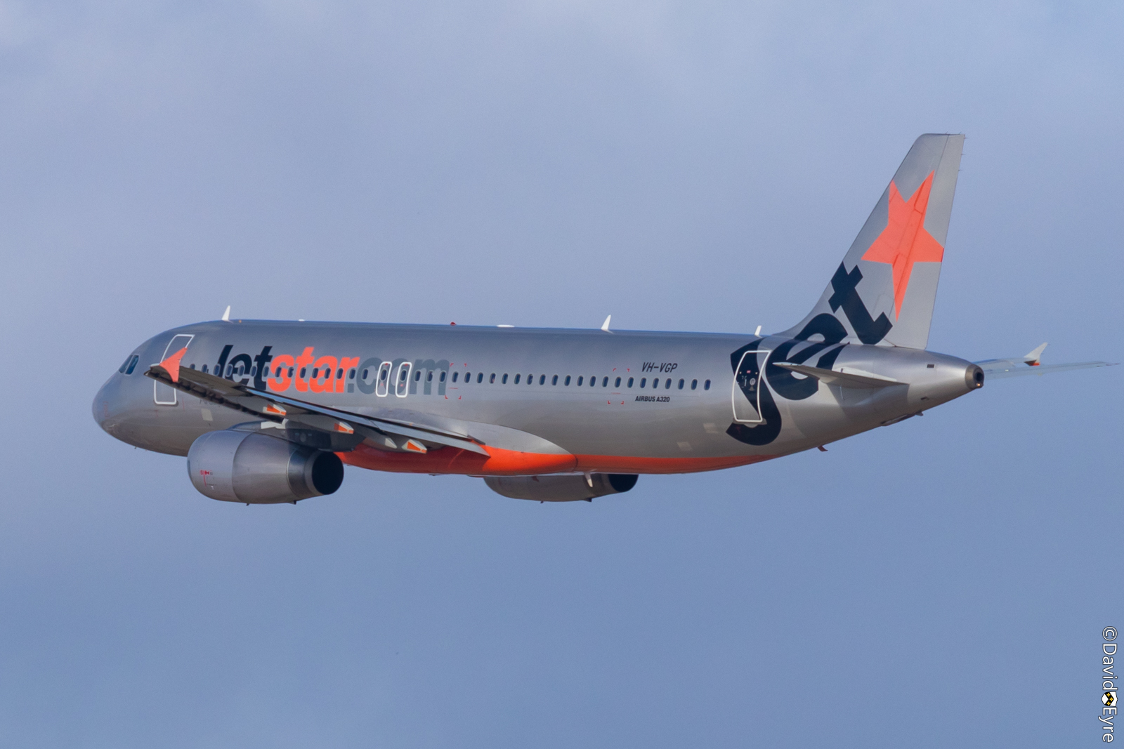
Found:
[[[895,317],[901,314],[901,302],[909,287],[913,264],[940,263],[944,258],[944,247],[925,231],[925,211],[928,209],[928,191],[932,188],[933,173],[930,172],[917,192],[909,200],[901,200],[898,185],[890,182],[890,210],[886,228],[862,256],[864,261],[894,266]]]

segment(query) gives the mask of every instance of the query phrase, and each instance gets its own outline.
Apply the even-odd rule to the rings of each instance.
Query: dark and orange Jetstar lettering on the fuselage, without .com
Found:
[[[255,356],[236,354],[227,344],[215,364],[215,374],[243,385],[253,383],[255,390],[283,393],[290,387],[298,392],[342,393],[347,372],[359,365],[357,356],[317,356],[308,346],[299,355],[273,354],[272,346],[263,346]]]

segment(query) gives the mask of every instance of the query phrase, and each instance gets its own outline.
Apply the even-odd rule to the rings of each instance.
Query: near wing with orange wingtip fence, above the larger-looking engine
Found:
[[[365,417],[351,411],[333,409],[278,393],[255,390],[223,377],[187,369],[180,359],[188,349],[181,348],[160,364],[154,364],[145,376],[165,385],[218,405],[242,411],[255,419],[285,423],[337,435],[359,435],[372,439],[380,447],[408,453],[426,453],[430,446],[456,447],[462,450],[488,455],[480,440],[444,429],[427,427],[396,419]],[[356,444],[360,441],[356,439]],[[354,447],[354,445],[353,445]],[[350,448],[348,448],[350,449]]]

